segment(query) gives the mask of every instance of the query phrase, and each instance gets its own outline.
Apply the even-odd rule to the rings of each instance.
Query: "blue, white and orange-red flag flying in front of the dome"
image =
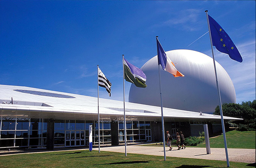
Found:
[[[175,68],[173,62],[166,56],[166,53],[164,52],[163,47],[158,41],[158,38],[156,38],[156,42],[158,65],[161,65],[163,70],[173,74],[174,77],[184,76]]]

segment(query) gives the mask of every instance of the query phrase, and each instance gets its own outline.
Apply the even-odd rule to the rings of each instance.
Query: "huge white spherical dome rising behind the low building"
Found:
[[[211,57],[193,50],[165,52],[185,77],[174,77],[160,67],[163,106],[212,114],[219,105],[216,79]],[[236,103],[234,85],[225,69],[216,62],[222,103]],[[161,106],[157,56],[141,70],[146,74],[147,88],[131,85],[129,102]]]

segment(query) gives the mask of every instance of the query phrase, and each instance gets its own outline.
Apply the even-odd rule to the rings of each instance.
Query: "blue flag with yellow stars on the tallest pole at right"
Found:
[[[232,60],[242,62],[243,59],[228,33],[210,15],[208,15],[212,35],[212,45],[221,53],[226,53]]]

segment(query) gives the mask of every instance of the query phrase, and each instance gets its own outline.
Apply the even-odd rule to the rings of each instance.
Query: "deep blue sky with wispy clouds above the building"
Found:
[[[0,84],[97,97],[97,64],[123,100],[122,54],[137,67],[165,51],[211,56],[204,10],[236,44],[239,63],[214,47],[236,102],[255,99],[255,1],[0,1]],[[130,83],[125,82],[128,101]]]

